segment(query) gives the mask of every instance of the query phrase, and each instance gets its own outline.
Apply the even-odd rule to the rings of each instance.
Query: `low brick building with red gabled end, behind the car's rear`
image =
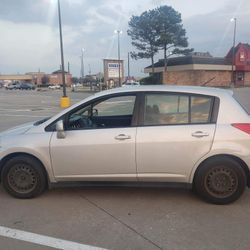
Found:
[[[225,57],[195,52],[188,56],[170,58],[167,61],[167,72],[164,71],[164,60],[159,60],[154,64],[155,74],[163,84],[229,87],[233,80],[235,86],[248,86],[250,45],[239,43],[234,54],[233,76],[232,48]],[[145,68],[144,72],[152,74],[152,66]]]

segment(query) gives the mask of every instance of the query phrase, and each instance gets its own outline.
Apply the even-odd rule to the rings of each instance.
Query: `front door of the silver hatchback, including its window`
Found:
[[[116,95],[75,108],[65,138],[54,132],[51,161],[57,180],[136,180],[136,95]]]

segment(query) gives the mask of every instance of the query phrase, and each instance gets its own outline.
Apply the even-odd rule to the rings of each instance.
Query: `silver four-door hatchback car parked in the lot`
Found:
[[[215,204],[249,185],[250,117],[233,93],[139,86],[95,94],[0,134],[0,173],[14,197],[53,184],[178,184]]]

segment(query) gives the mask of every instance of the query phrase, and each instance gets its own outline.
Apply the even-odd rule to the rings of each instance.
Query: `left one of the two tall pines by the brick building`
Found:
[[[154,56],[158,53],[157,39],[159,38],[153,14],[152,11],[145,11],[140,16],[132,16],[127,31],[132,39],[132,45],[139,50],[139,52],[131,52],[131,57],[136,60],[151,58],[152,73],[154,73]]]

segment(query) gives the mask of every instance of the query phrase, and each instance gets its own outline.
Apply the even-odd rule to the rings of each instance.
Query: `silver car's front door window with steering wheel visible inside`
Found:
[[[67,130],[129,127],[135,106],[135,95],[110,97],[70,113]]]

